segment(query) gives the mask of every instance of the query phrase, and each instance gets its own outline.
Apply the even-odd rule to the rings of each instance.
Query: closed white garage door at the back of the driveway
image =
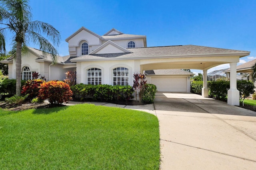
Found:
[[[187,78],[163,78],[152,77],[152,84],[156,85],[159,92],[186,92],[187,91]]]

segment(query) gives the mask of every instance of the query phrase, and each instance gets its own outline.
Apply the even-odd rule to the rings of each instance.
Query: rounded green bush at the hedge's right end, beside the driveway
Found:
[[[154,84],[144,84],[142,93],[142,101],[146,103],[153,103],[156,94],[156,85]]]

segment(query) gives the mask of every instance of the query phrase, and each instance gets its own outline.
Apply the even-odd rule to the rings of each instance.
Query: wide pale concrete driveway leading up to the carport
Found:
[[[157,92],[161,169],[256,169],[256,112],[191,93]]]

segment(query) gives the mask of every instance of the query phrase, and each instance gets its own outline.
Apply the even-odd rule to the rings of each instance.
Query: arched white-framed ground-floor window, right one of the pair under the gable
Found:
[[[125,67],[117,67],[113,69],[113,85],[129,85],[129,70]]]

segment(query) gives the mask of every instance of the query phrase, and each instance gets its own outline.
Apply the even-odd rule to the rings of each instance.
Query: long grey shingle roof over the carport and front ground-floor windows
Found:
[[[249,51],[231,50],[231,49],[220,49],[214,47],[204,47],[197,45],[178,45],[178,46],[164,46],[164,47],[140,47],[140,48],[129,48],[132,53],[113,53],[113,54],[91,54],[77,57],[77,60],[90,60],[90,59],[104,59],[104,58],[133,58],[133,57],[192,57],[194,55],[228,55],[228,54],[240,54],[246,56],[250,53]],[[199,56],[197,56],[199,57]],[[74,59],[74,60],[76,60]]]

